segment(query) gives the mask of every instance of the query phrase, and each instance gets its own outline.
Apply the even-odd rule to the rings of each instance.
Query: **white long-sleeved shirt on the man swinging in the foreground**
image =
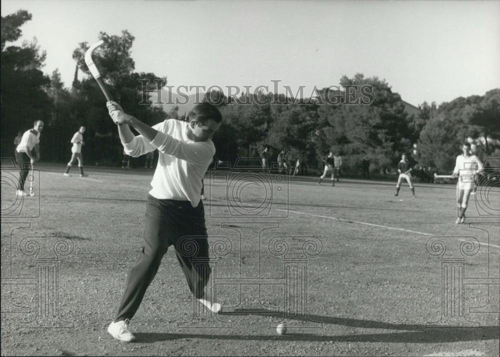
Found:
[[[149,194],[157,199],[189,201],[196,207],[200,201],[201,180],[215,154],[215,145],[211,140],[190,140],[187,125],[184,121],[167,119],[153,126],[158,130],[153,141],[138,135],[123,144],[123,148],[133,157],[158,149],[158,164]]]

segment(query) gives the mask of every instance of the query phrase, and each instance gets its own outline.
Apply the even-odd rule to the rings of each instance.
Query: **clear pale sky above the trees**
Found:
[[[361,72],[414,105],[500,87],[500,1],[1,1],[2,16],[20,8],[22,39],[68,87],[78,43],[124,29],[135,71],[175,86],[321,88]]]

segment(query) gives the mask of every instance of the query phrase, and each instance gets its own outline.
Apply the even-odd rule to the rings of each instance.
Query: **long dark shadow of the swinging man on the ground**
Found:
[[[271,315],[284,316],[283,312],[273,310],[239,309],[233,312],[223,312],[224,316]],[[207,340],[250,340],[273,341],[276,339],[289,341],[317,342],[382,342],[382,343],[443,343],[458,341],[484,341],[500,337],[498,326],[482,326],[477,328],[425,328],[424,325],[390,324],[379,321],[337,318],[331,316],[308,315],[307,317],[286,317],[287,320],[315,322],[327,325],[342,325],[361,329],[402,330],[404,332],[389,332],[377,334],[333,335],[322,336],[311,333],[287,333],[286,335],[212,335],[212,334],[166,334],[166,333],[135,333],[137,343],[154,343],[177,339],[207,339]],[[293,330],[291,330],[293,331]]]

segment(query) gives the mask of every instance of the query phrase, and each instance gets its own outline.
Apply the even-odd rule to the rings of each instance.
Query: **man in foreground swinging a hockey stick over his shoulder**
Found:
[[[116,102],[108,102],[107,107],[118,124],[127,154],[137,157],[153,150],[159,152],[146,202],[144,246],[128,274],[115,319],[107,329],[115,339],[130,342],[135,338],[128,331],[128,322],[170,245],[174,246],[191,293],[212,312],[220,311],[220,305],[204,294],[210,266],[200,194],[201,179],[215,154],[211,138],[220,127],[222,116],[214,105],[205,102],[193,108],[189,122],[167,119],[150,127],[125,114]],[[140,135],[134,136],[129,126]]]

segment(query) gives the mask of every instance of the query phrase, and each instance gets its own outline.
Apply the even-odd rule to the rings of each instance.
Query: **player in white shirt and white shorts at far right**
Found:
[[[455,223],[465,222],[465,210],[467,209],[470,192],[474,189],[474,176],[482,171],[483,166],[477,156],[470,153],[470,144],[462,145],[462,154],[456,157],[453,177],[458,177],[456,183],[456,204],[458,206],[458,218]]]

